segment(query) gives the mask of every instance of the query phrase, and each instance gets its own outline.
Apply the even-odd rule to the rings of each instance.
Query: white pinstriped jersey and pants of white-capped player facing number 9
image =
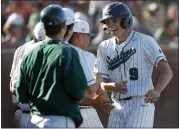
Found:
[[[93,69],[94,69],[94,65],[96,61],[95,55],[88,51],[84,51],[76,46],[73,46],[71,44],[69,45],[78,52],[80,63],[85,73],[88,86],[96,83],[96,80],[93,74]],[[80,128],[102,128],[103,127],[99,119],[99,116],[93,107],[80,109],[80,111],[83,117],[83,123],[80,125]]]

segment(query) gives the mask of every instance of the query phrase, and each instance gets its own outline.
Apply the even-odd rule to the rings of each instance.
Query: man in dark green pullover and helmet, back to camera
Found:
[[[17,100],[29,103],[32,127],[79,127],[83,121],[78,101],[87,81],[75,49],[63,43],[66,17],[59,5],[41,13],[46,40],[23,57]]]

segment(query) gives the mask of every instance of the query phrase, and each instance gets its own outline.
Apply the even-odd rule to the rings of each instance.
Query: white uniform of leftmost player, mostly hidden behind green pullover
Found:
[[[19,72],[20,72],[20,65],[21,61],[25,54],[27,54],[30,50],[32,50],[35,46],[39,45],[39,43],[34,43],[34,41],[30,41],[25,43],[24,45],[20,46],[14,53],[14,59],[12,63],[12,68],[10,72],[12,88],[16,89]],[[30,111],[29,104],[21,104],[17,102],[16,96],[12,95],[12,103],[18,106],[22,111]],[[17,110],[15,113],[15,124],[17,127],[26,128],[30,126],[30,114],[23,113],[21,110]],[[21,119],[19,119],[19,117]]]

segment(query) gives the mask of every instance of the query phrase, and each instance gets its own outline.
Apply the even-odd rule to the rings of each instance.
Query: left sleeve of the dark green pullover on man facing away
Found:
[[[24,62],[25,61],[23,60],[19,72],[19,80],[17,85],[17,101],[20,103],[29,103],[28,84],[26,83],[26,74],[24,73]]]

